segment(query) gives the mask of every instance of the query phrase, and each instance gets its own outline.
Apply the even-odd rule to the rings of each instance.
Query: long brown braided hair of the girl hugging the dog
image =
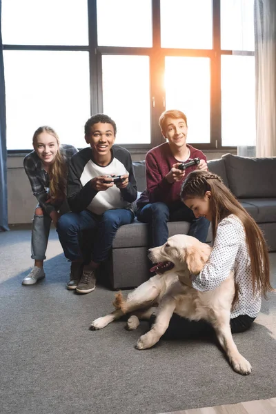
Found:
[[[181,188],[181,200],[203,198],[206,191],[210,191],[210,208],[212,215],[212,230],[215,239],[219,222],[234,214],[242,221],[246,233],[246,244],[250,256],[252,270],[253,293],[260,293],[264,297],[268,291],[274,291],[270,285],[270,266],[268,246],[264,235],[255,220],[247,213],[242,204],[223,184],[221,177],[212,172],[193,171],[184,180]]]

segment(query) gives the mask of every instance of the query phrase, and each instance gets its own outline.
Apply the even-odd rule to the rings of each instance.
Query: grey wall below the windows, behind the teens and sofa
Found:
[[[207,159],[217,159],[224,152],[207,152]],[[132,160],[139,161],[145,154],[133,154]],[[32,195],[30,181],[23,168],[23,156],[8,156],[8,223],[26,224],[32,220],[37,199]]]

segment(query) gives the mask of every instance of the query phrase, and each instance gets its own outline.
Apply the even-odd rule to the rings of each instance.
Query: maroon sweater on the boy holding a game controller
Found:
[[[186,159],[186,161],[198,157],[207,162],[206,156],[202,151],[197,150],[188,144],[187,147],[190,150],[190,157],[189,159]],[[168,205],[175,203],[175,201],[180,201],[179,196],[183,181],[175,181],[170,184],[165,178],[168,172],[172,169],[172,165],[177,162],[179,161],[172,155],[168,142],[148,151],[146,155],[147,188],[141,193],[139,200],[137,200],[137,208],[141,208],[148,203],[155,203],[157,201],[161,201]],[[197,166],[188,167],[184,178],[187,177],[189,172],[196,169]]]

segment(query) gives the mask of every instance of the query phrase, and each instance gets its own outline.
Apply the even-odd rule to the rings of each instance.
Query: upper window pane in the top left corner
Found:
[[[88,45],[87,0],[3,0],[4,44]]]

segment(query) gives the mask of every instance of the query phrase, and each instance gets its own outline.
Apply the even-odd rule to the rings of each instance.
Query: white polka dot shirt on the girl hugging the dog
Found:
[[[238,300],[230,317],[256,317],[261,308],[261,297],[253,295],[246,233],[242,221],[233,214],[221,220],[217,226],[212,253],[199,275],[192,276],[193,287],[201,292],[213,290],[228,277],[230,270],[235,273],[235,281],[239,286]]]

